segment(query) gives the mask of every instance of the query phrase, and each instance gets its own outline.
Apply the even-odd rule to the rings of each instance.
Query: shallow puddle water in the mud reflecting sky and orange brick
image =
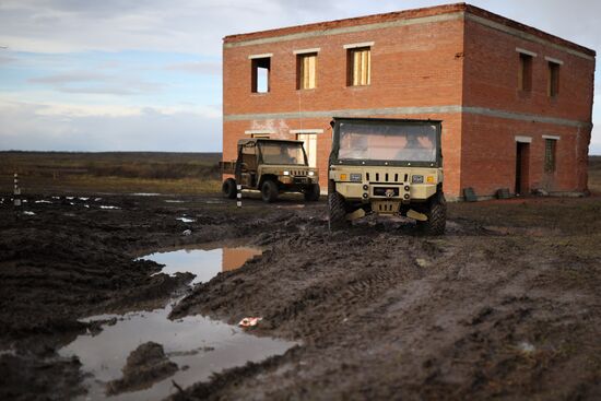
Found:
[[[246,260],[261,251],[249,247],[217,249],[180,249],[152,253],[144,259],[164,263],[164,273],[191,272],[195,283],[205,282],[220,271],[239,268]],[[190,316],[175,321],[167,317],[179,299],[153,311],[137,311],[126,315],[102,315],[85,319],[105,320],[116,318],[115,325],[104,325],[97,335],[80,335],[59,351],[63,356],[78,355],[82,370],[92,374],[85,380],[89,393],[82,399],[104,399],[106,384],[119,379],[128,355],[140,344],[153,341],[163,345],[170,361],[179,370],[152,387],[123,392],[109,400],[161,400],[176,391],[172,380],[180,387],[205,380],[212,373],[259,362],[271,355],[283,354],[293,342],[258,338],[245,333],[235,326]]]

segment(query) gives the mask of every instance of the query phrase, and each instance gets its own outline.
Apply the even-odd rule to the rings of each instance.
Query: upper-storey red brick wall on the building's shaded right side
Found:
[[[519,56],[516,48],[537,54],[532,63],[532,91],[518,91]],[[545,56],[564,61],[559,68],[559,95],[546,93]],[[525,40],[466,21],[466,106],[490,107],[574,120],[590,120],[594,61]]]

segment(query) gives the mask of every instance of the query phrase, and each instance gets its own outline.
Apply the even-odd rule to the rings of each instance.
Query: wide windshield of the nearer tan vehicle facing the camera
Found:
[[[341,122],[338,158],[436,162],[435,125]]]

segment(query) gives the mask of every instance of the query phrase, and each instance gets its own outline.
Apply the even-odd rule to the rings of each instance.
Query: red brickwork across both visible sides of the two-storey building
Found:
[[[459,7],[459,9],[458,9]],[[463,10],[463,5],[448,11]],[[469,8],[480,16],[502,23],[500,16]],[[472,10],[473,9],[473,10]],[[444,11],[426,13],[437,15]],[[424,14],[424,15],[426,15]],[[415,14],[414,16],[420,16]],[[448,16],[448,15],[447,15]],[[394,20],[391,14],[369,16],[361,23]],[[328,25],[329,24],[329,25]],[[331,28],[326,23],[323,28]],[[350,26],[350,22],[340,23]],[[338,25],[337,25],[338,26]],[[333,27],[337,27],[333,26]],[[451,19],[404,26],[345,34],[297,38],[251,46],[228,47],[243,39],[268,38],[278,34],[304,32],[302,27],[281,33],[260,33],[226,38],[223,50],[224,160],[235,157],[235,143],[245,130],[271,129],[275,137],[294,139],[290,130],[322,129],[318,134],[318,168],[320,184],[327,185],[328,156],[331,146],[330,118],[274,118],[232,120],[231,116],[252,114],[381,109],[391,107],[463,106],[494,109],[516,115],[537,115],[573,121],[590,121],[593,93],[594,61],[575,56],[557,46],[588,51],[559,38],[545,36],[537,30],[515,22],[506,26],[521,28],[535,40],[526,40],[499,30],[483,26],[471,17]],[[287,30],[287,31],[286,31]],[[293,30],[288,32],[290,30]],[[315,31],[315,26],[307,28]],[[549,40],[541,44],[541,38]],[[372,84],[346,86],[345,44],[374,42],[372,47]],[[553,45],[551,45],[553,43]],[[538,54],[532,68],[532,92],[517,91],[519,57],[516,47]],[[317,63],[317,89],[296,90],[296,56],[294,50],[320,48]],[[254,94],[250,90],[248,56],[273,54],[270,92]],[[549,56],[564,61],[561,67],[559,95],[546,95],[546,61]],[[445,190],[451,197],[473,187],[478,194],[490,196],[498,188],[515,186],[516,135],[532,137],[529,156],[531,188],[553,191],[586,189],[587,154],[590,127],[523,121],[482,114],[406,114],[370,115],[364,117],[441,119],[445,156]],[[518,116],[519,117],[519,116]],[[543,134],[561,135],[557,142],[557,169],[545,175]]]

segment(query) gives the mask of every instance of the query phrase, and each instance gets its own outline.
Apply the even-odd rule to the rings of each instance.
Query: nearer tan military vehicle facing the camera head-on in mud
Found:
[[[440,121],[334,118],[331,125],[333,226],[377,213],[414,219],[427,234],[445,232]]]

